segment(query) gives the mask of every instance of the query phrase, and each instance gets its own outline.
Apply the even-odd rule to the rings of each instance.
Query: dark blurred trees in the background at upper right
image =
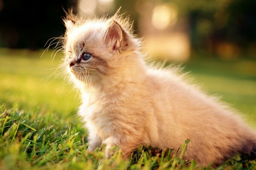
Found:
[[[180,6],[185,6],[180,4]],[[193,49],[215,50],[219,42],[242,49],[256,43],[255,0],[199,0],[186,4]],[[207,46],[208,45],[208,46]]]

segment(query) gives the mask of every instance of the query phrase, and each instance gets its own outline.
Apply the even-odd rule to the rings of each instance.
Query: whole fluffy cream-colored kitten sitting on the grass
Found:
[[[255,157],[256,133],[174,71],[146,65],[127,20],[67,14],[64,24],[64,65],[81,90],[89,150],[106,144],[108,156],[118,145],[127,156],[142,144],[177,149],[190,139],[186,158],[201,165],[236,153]]]

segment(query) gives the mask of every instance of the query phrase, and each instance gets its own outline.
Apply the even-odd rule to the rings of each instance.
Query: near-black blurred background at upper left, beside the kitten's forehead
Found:
[[[8,48],[41,48],[64,34],[63,8],[73,6],[67,0],[0,1],[0,47]]]

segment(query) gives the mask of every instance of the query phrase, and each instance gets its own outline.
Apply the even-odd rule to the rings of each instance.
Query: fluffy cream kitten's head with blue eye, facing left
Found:
[[[139,48],[128,19],[117,14],[109,19],[83,20],[68,13],[63,20],[67,28],[64,65],[75,81],[98,81],[116,70],[122,54]]]

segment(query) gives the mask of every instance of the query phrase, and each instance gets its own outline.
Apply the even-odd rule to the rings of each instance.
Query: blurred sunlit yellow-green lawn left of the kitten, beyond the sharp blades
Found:
[[[57,77],[54,74],[60,55],[52,61],[51,52],[40,58],[42,53],[26,50],[2,53],[0,101],[70,113],[79,105],[77,90],[63,81],[64,74]]]

